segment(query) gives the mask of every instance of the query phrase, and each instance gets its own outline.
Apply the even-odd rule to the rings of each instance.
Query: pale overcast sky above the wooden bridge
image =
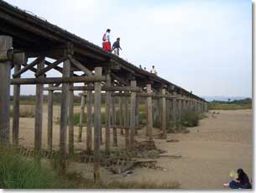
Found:
[[[248,0],[8,0],[101,45],[112,29],[120,55],[198,96],[252,95],[252,3]],[[22,94],[34,94],[22,87]]]

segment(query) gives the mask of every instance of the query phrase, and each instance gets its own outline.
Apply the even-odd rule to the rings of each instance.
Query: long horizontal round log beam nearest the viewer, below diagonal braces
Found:
[[[52,83],[70,83],[70,82],[94,82],[94,81],[105,81],[105,76],[79,76],[79,77],[58,77],[58,78],[17,78],[12,79],[11,84],[20,84],[20,85],[34,85],[34,84],[52,84]]]

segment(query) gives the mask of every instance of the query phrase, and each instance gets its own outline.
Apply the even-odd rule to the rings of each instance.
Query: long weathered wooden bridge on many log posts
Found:
[[[102,138],[102,96],[106,97],[106,154],[118,146],[118,128],[125,130],[126,148],[133,149],[138,128],[138,105],[146,104],[145,135],[153,141],[153,108],[158,111],[163,137],[166,124],[180,120],[182,112],[191,109],[206,112],[207,102],[170,81],[139,69],[117,55],[102,50],[86,39],[60,29],[44,19],[27,13],[0,0],[0,141],[18,145],[20,85],[36,85],[34,149],[42,147],[43,92],[48,96],[48,149],[52,149],[53,92],[60,90],[60,166],[65,171],[66,154],[74,152],[74,91],[81,91],[81,124],[86,127],[86,149],[94,141],[94,177],[99,179],[100,146]],[[28,59],[34,60],[28,64]],[[50,62],[47,58],[55,60]],[[63,67],[59,65],[63,63]],[[11,69],[14,73],[11,78]],[[28,70],[34,78],[21,78]],[[50,70],[61,77],[47,77]],[[83,75],[77,75],[81,71]],[[76,86],[76,83],[84,86]],[[47,87],[44,85],[47,84]],[[13,85],[13,128],[10,128],[10,85]],[[118,104],[116,104],[118,99]],[[94,105],[92,104],[94,102]],[[92,113],[92,106],[93,111]],[[118,106],[120,123],[116,123]],[[86,107],[87,120],[82,118]],[[92,116],[94,114],[94,123]],[[69,120],[69,122],[68,122]],[[94,129],[92,140],[91,129]],[[9,138],[13,132],[12,140]],[[68,136],[67,136],[68,133]],[[68,143],[67,143],[68,138]],[[68,145],[67,145],[68,144]]]

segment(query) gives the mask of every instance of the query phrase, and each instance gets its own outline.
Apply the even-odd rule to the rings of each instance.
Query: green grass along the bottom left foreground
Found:
[[[93,175],[93,174],[91,174]],[[34,159],[16,154],[12,148],[0,147],[0,188],[2,189],[177,189],[178,182],[156,185],[153,182],[98,182],[75,172],[58,175]]]

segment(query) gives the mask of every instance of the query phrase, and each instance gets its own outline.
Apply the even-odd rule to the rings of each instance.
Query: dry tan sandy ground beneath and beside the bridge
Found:
[[[44,107],[43,147],[47,144],[47,108]],[[55,117],[60,115],[60,107],[55,106]],[[79,112],[79,107],[76,107]],[[222,186],[230,179],[230,170],[243,168],[249,178],[253,178],[253,117],[252,110],[209,112],[196,128],[190,128],[190,133],[170,133],[168,139],[179,139],[177,143],[167,143],[164,139],[155,139],[158,149],[168,154],[181,154],[180,159],[159,158],[159,166],[163,170],[138,168],[133,175],[112,175],[101,168],[103,181],[152,181],[164,183],[180,182],[182,189],[227,189]],[[54,148],[59,147],[60,126],[54,126]],[[154,131],[155,133],[157,131]],[[104,131],[103,131],[104,133]],[[118,134],[120,132],[118,131]],[[136,140],[144,140],[145,131],[139,131]],[[86,133],[83,141],[77,142],[78,128],[75,128],[75,148],[86,148]],[[24,146],[34,146],[34,118],[20,119],[20,143]],[[119,148],[124,148],[123,136],[118,136]],[[104,145],[102,145],[104,149]],[[70,171],[81,172],[86,178],[93,178],[92,164],[71,163]]]

